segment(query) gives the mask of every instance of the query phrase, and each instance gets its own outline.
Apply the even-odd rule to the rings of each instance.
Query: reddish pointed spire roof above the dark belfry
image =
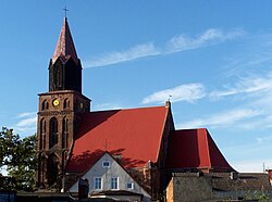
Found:
[[[57,47],[52,56],[52,64],[57,61],[58,58],[61,59],[63,63],[70,58],[73,58],[74,62],[78,63],[78,58],[76,54],[75,46],[73,42],[73,38],[69,28],[67,17],[64,17],[64,22],[61,28],[61,34],[59,40],[57,42]]]

